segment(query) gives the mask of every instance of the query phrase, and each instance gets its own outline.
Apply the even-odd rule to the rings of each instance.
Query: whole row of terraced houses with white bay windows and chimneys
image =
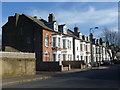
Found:
[[[112,57],[102,38],[83,35],[78,27],[70,30],[66,24],[59,25],[53,13],[48,21],[16,13],[8,17],[2,30],[2,51],[35,53],[36,70],[59,70],[67,65],[79,68]]]

